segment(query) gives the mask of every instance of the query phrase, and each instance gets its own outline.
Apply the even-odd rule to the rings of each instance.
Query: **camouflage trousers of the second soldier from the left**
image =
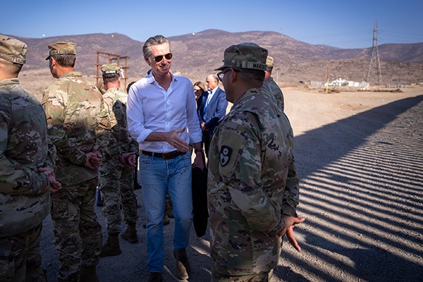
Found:
[[[96,266],[102,251],[102,227],[94,212],[98,178],[63,186],[51,193],[51,219],[59,252],[58,281],[79,281],[82,266]]]

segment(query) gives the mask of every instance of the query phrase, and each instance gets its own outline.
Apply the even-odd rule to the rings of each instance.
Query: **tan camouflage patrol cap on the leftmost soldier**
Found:
[[[23,65],[26,61],[27,44],[10,36],[0,35],[0,58]]]

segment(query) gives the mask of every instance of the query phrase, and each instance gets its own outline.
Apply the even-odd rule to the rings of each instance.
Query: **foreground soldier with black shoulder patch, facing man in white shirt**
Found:
[[[295,241],[292,226],[304,221],[296,214],[298,185],[287,183],[293,131],[262,94],[266,56],[257,44],[233,45],[217,69],[233,107],[216,128],[209,152],[213,281],[269,281],[282,236],[289,228],[288,238]]]

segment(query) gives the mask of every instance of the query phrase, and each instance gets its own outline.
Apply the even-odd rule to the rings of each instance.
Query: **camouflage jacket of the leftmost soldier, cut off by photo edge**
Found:
[[[38,226],[49,214],[48,159],[42,106],[18,78],[0,81],[0,237]]]

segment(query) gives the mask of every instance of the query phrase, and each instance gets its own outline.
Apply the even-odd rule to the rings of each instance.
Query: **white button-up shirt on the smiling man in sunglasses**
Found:
[[[166,91],[150,73],[130,87],[126,114],[129,132],[137,140],[140,150],[155,153],[175,151],[176,148],[168,142],[145,141],[152,132],[173,129],[185,128],[179,136],[187,143],[201,142],[194,88],[188,78],[172,74],[171,85]]]

